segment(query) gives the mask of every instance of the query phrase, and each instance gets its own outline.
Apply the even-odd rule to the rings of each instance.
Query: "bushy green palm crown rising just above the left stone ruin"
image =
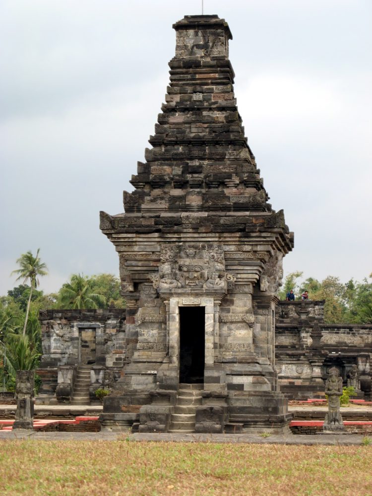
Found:
[[[73,274],[70,282],[62,285],[57,301],[64,309],[96,309],[105,304],[105,297],[94,293],[91,281],[82,274]]]

